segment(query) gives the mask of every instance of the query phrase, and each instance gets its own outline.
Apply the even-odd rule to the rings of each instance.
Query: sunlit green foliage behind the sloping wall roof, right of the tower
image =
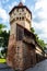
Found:
[[[36,37],[36,42],[38,43],[38,45],[45,50],[46,49],[46,44],[43,39],[39,39],[38,35],[35,34],[35,29],[34,27],[31,28],[31,32],[34,33],[35,37]]]

